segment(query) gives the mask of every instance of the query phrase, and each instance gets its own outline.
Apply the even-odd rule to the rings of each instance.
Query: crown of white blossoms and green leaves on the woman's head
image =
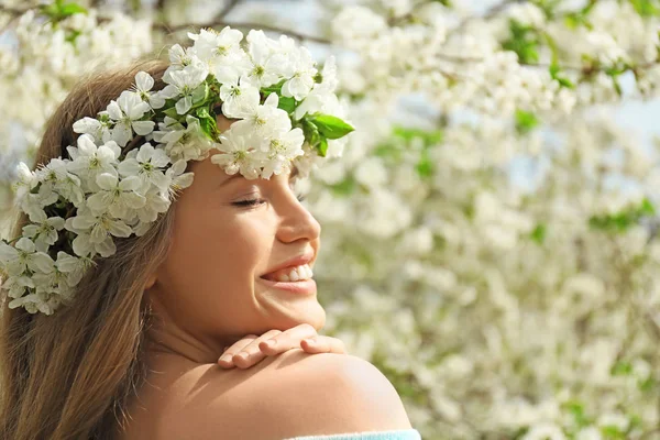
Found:
[[[309,51],[285,35],[250,31],[243,41],[227,26],[188,36],[191,47],[169,48],[165,88],[152,91],[154,79],[140,72],[97,119],[74,123],[80,135],[69,158],[34,172],[19,164],[12,187],[30,223],[11,244],[0,242],[10,308],[52,315],[70,304],[94,258],[116,253],[114,237],[143,235],[193,183],[187,162],[211,150],[213,164],[248,179],[293,164],[306,176],[342,154],[353,128],[341,119],[332,57],[318,72]],[[238,120],[222,133],[218,108]],[[130,150],[138,136],[147,142]]]

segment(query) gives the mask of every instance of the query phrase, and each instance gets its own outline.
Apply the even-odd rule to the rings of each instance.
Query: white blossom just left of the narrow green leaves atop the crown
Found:
[[[178,98],[176,102],[176,112],[184,114],[194,103],[199,102],[205,97],[204,81],[208,75],[206,68],[199,65],[191,65],[182,70],[169,73],[168,77],[163,76],[163,80],[168,85],[161,91],[164,98]]]

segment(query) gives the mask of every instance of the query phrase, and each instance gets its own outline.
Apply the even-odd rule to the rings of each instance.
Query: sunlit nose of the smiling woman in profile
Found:
[[[288,190],[279,209],[279,228],[277,239],[284,243],[300,239],[309,241],[318,240],[321,234],[321,226],[311,212]]]

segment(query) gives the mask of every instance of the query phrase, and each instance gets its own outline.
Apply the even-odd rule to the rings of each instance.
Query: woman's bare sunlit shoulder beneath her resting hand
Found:
[[[410,428],[392,383],[353,355],[292,350],[250,370],[226,373],[198,384],[200,392],[170,433],[174,429],[187,436],[178,438],[280,440]]]

